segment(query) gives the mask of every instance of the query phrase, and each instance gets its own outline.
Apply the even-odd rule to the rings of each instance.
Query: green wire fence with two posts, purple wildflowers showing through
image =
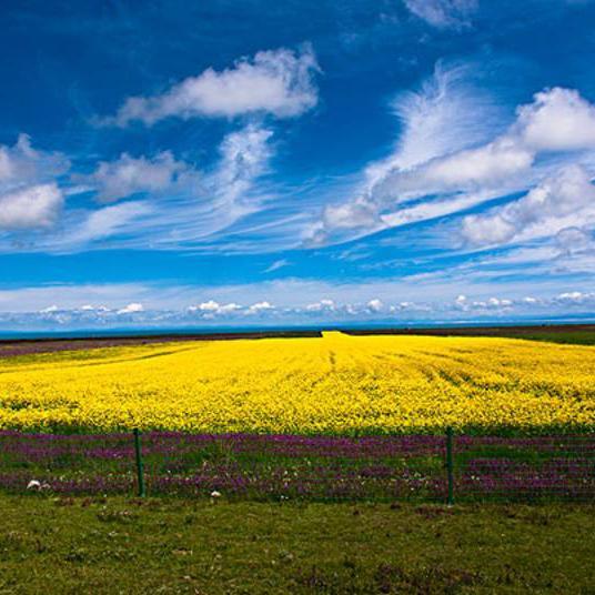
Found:
[[[229,500],[595,502],[595,434],[0,432],[0,491]]]

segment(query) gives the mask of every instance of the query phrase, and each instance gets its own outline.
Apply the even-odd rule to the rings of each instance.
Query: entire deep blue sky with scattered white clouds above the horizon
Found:
[[[595,2],[0,22],[2,329],[595,312]]]

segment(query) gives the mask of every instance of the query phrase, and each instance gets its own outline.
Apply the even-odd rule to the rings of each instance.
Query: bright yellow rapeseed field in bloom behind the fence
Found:
[[[595,347],[493,337],[196,341],[0,360],[0,427],[387,433],[595,425]]]

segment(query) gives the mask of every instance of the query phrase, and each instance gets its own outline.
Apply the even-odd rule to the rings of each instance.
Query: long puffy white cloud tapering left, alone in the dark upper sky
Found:
[[[242,58],[230,69],[206,69],[162,94],[129,98],[108,122],[127,125],[139,120],[148,125],[169,117],[234,118],[270,113],[291,118],[317,102],[314,74],[319,67],[310,47],[300,52],[284,48]]]

